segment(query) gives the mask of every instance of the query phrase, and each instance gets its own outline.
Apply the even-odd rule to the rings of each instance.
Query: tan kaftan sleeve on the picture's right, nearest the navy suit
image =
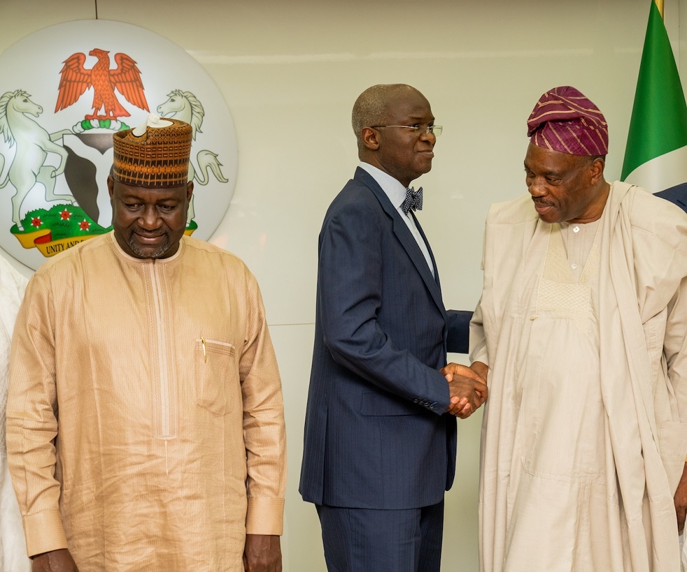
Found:
[[[286,429],[282,385],[258,283],[247,272],[247,330],[240,358],[247,463],[247,534],[282,534]]]

